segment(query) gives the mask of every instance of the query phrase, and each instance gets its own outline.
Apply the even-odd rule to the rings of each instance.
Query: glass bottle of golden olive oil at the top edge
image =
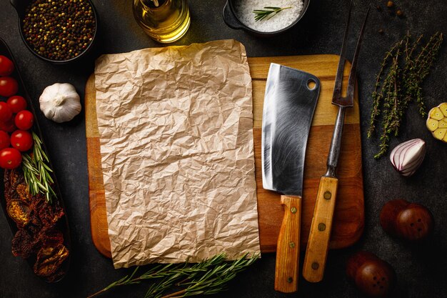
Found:
[[[146,34],[161,43],[180,39],[191,22],[186,0],[134,0],[134,16]]]

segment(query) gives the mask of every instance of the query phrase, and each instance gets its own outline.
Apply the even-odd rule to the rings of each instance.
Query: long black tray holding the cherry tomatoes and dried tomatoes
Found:
[[[14,56],[12,55],[11,50],[6,45],[6,43],[3,39],[0,39],[0,55],[8,57],[14,63],[14,72],[11,74],[11,76],[14,77],[14,79],[16,79],[17,83],[19,84],[19,91],[17,91],[17,95],[21,95],[26,99],[27,109],[29,109],[29,111],[31,111],[34,114],[34,126],[32,127],[32,130],[41,139],[41,141],[43,143],[42,149],[44,149],[45,152],[48,152],[46,150],[46,146],[44,144],[44,139],[42,138],[42,133],[41,133],[41,129],[39,127],[39,123],[37,121],[36,111],[34,110],[33,102],[31,101],[31,98],[29,97],[29,94],[25,89],[24,81],[21,78],[19,69],[17,69],[16,60],[14,59]],[[6,98],[3,96],[0,96],[0,99],[1,99],[1,101],[4,101]],[[49,162],[49,166],[51,167],[51,169],[54,169],[54,167],[51,165],[51,161]],[[67,257],[67,259],[64,261],[64,263],[61,265],[61,269],[64,270],[65,274],[63,276],[61,276],[59,279],[52,281],[52,282],[59,282],[61,279],[64,278],[64,276],[66,275],[66,273],[69,270],[69,264],[70,264],[72,252],[71,252],[69,222],[68,222],[68,219],[66,216],[66,209],[64,206],[64,201],[62,200],[61,190],[59,189],[59,184],[57,183],[55,173],[53,173],[52,177],[54,179],[54,186],[53,186],[54,192],[56,193],[57,199],[59,200],[61,207],[64,209],[64,217],[59,219],[59,222],[56,224],[56,228],[59,229],[64,234],[64,245],[67,249],[69,249],[69,257]],[[16,222],[14,222],[14,220],[12,220],[9,217],[8,213],[6,212],[6,199],[4,198],[3,179],[4,179],[4,169],[0,169],[0,197],[1,197],[0,205],[1,205],[1,209],[3,209],[3,211],[4,211],[6,219],[8,220],[9,227],[11,228],[11,232],[14,235],[14,234],[16,234],[18,229],[17,229]],[[2,252],[2,253],[4,253],[4,252]],[[9,252],[9,253],[11,254],[11,257],[14,257],[12,252]],[[29,266],[31,267],[31,270],[33,270],[33,266],[34,266],[34,263],[36,262],[36,258],[34,256],[31,256],[28,259],[26,259],[26,261],[28,262]],[[42,278],[42,279],[44,279],[44,278]],[[44,280],[46,282],[48,282],[46,279],[44,279]]]

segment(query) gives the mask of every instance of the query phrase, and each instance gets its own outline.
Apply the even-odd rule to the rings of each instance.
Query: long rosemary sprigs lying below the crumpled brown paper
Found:
[[[151,284],[146,292],[145,298],[170,298],[187,297],[199,294],[215,294],[224,291],[231,279],[236,277],[238,272],[243,271],[253,264],[258,255],[253,255],[247,259],[248,254],[244,254],[233,262],[226,262],[225,254],[217,254],[211,259],[204,259],[198,264],[159,264],[148,272],[136,277],[139,267],[136,267],[130,275],[119,279],[99,292],[91,294],[87,298],[96,297],[109,289],[130,284],[139,284],[144,280],[158,279],[158,282]],[[166,292],[177,287],[179,290],[166,294]]]

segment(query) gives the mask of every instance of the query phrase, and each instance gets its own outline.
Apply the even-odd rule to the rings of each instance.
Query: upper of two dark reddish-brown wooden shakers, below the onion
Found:
[[[380,214],[383,230],[395,237],[419,241],[433,231],[433,215],[421,204],[395,199],[386,203]]]

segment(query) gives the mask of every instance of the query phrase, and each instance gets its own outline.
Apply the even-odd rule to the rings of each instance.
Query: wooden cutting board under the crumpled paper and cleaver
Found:
[[[261,124],[266,76],[270,63],[283,64],[307,71],[321,80],[321,93],[316,106],[308,139],[303,184],[301,246],[305,247],[311,225],[318,182],[326,172],[326,158],[331,144],[337,107],[331,104],[338,56],[276,56],[248,58],[253,80],[253,135],[258,197],[258,222],[261,252],[275,252],[276,239],[283,218],[280,195],[262,188],[261,174]],[[348,80],[349,67],[345,68],[343,86]],[[96,91],[94,75],[89,78],[85,92],[86,143],[89,167],[89,198],[91,237],[96,248],[111,257],[107,232],[106,202],[101,169],[99,131],[96,119]],[[361,136],[358,96],[355,94],[353,109],[346,112],[343,145],[338,168],[338,197],[336,202],[331,249],[348,247],[363,232],[363,178],[361,169]]]

